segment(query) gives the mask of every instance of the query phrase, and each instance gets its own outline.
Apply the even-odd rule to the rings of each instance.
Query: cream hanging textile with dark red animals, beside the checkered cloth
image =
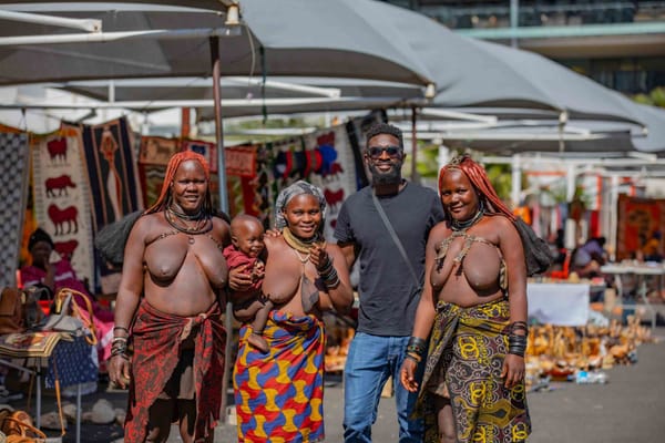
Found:
[[[83,166],[81,131],[75,126],[33,138],[32,197],[37,224],[53,238],[79,279],[94,284],[90,187]]]

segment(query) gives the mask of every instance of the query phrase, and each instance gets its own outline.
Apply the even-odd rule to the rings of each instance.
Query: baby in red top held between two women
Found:
[[[265,262],[260,257],[265,247],[263,236],[264,228],[258,218],[245,214],[235,216],[231,222],[232,244],[224,249],[224,257],[229,269],[244,268],[244,272],[252,275],[249,289],[232,296],[233,313],[238,318],[254,317],[247,341],[262,352],[268,352],[263,330],[273,302],[260,290],[265,271]]]

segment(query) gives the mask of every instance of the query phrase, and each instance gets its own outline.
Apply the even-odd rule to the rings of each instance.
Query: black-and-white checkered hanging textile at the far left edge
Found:
[[[17,285],[28,171],[28,134],[0,133],[0,287]]]

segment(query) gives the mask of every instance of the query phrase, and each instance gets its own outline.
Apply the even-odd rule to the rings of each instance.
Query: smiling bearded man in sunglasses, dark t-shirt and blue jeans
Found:
[[[422,421],[409,420],[417,394],[399,383],[399,370],[423,290],[427,238],[444,215],[433,189],[402,178],[405,157],[399,128],[385,123],[370,127],[364,159],[371,186],[342,204],[335,227],[335,238],[349,268],[357,259],[360,265],[358,329],[344,378],[345,442],[371,442],[381,390],[390,375],[399,441],[422,441]],[[380,205],[399,238],[403,255],[376,205]],[[430,290],[429,285],[424,290]]]

